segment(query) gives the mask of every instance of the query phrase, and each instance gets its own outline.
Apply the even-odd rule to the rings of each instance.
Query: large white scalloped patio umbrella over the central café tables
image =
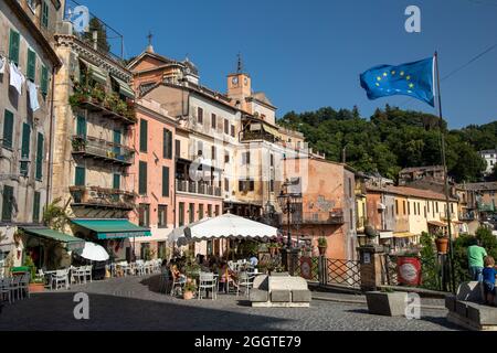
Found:
[[[277,237],[278,229],[233,214],[224,214],[187,226],[184,235],[184,238],[180,238],[178,244],[210,239],[267,240]]]

